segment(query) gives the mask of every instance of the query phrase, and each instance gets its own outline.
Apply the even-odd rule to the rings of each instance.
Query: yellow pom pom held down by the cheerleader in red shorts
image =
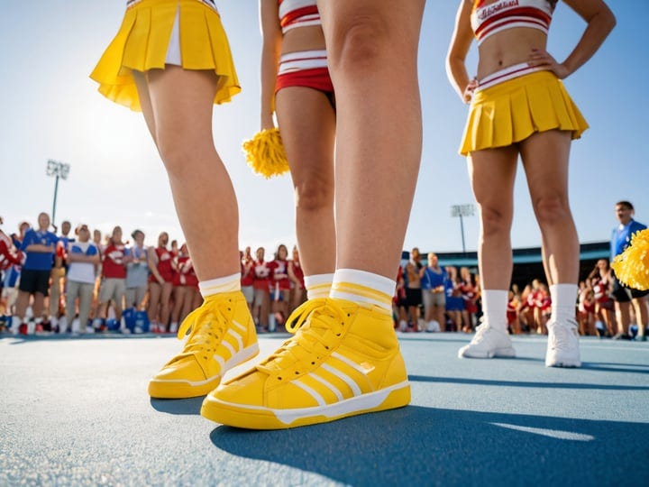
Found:
[[[255,133],[243,142],[243,152],[252,170],[266,179],[288,172],[286,152],[277,128]]]

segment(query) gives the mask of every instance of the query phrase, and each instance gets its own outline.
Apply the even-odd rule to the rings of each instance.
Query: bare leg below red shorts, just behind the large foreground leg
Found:
[[[287,87],[277,113],[295,188],[296,230],[306,275],[335,270],[335,113],[324,93]]]

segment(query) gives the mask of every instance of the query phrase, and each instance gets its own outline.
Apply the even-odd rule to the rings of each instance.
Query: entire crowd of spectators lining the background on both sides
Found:
[[[2,220],[0,219],[0,225]],[[183,319],[203,301],[187,244],[169,234],[147,246],[141,230],[123,239],[115,226],[105,235],[87,224],[72,231],[68,221],[60,234],[50,232],[50,217],[41,213],[38,229],[27,222],[18,233],[0,230],[0,330],[36,332],[177,333]],[[266,260],[263,247],[241,253],[242,292],[260,333],[280,330],[306,299],[304,272],[297,247],[291,258],[280,244]],[[607,259],[600,259],[580,282],[575,316],[581,335],[627,338],[637,333],[631,308],[619,319],[614,279]],[[472,333],[480,323],[480,279],[467,267],[439,264],[435,253],[424,259],[417,248],[398,269],[393,299],[395,327],[402,332]],[[644,302],[644,306],[646,303]],[[509,290],[507,322],[511,334],[546,334],[552,302],[547,285],[532,280]]]

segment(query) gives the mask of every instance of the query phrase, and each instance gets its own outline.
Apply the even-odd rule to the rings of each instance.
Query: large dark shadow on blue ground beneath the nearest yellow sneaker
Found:
[[[645,485],[649,475],[644,423],[409,406],[210,437],[229,454],[352,485]]]

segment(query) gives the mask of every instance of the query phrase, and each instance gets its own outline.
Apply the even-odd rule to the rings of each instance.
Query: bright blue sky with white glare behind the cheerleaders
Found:
[[[69,0],[4,6],[0,215],[5,231],[13,232],[23,219],[35,223],[40,211],[51,212],[54,179],[45,174],[51,158],[71,165],[69,179],[59,183],[58,222],[84,222],[104,232],[122,225],[125,234],[138,227],[151,244],[162,230],[182,240],[169,184],[142,115],[108,102],[88,78],[117,32],[124,4]],[[619,199],[631,200],[636,218],[649,223],[644,147],[649,137],[649,56],[643,37],[649,2],[609,4],[617,16],[616,29],[595,58],[565,80],[591,127],[571,151],[571,207],[582,243],[608,240]],[[215,108],[215,143],[239,198],[241,245],[270,251],[296,239],[290,180],[254,175],[241,151],[241,142],[259,128],[257,2],[217,0],[217,5],[243,91],[233,103]],[[424,151],[406,249],[461,250],[460,222],[452,218],[450,207],[474,202],[466,163],[457,154],[467,107],[452,91],[443,64],[457,5],[428,0],[425,8],[419,53]],[[549,38],[555,58],[567,56],[584,26],[559,4]],[[474,49],[468,64],[472,74]],[[513,244],[537,246],[540,234],[520,166],[515,198]],[[478,216],[465,218],[467,250],[475,250],[479,226]]]

